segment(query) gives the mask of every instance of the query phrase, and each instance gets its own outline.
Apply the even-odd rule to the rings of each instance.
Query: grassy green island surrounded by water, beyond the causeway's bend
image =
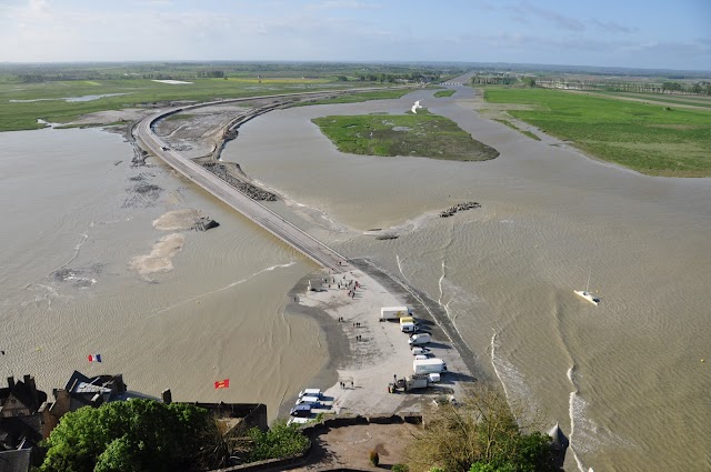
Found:
[[[428,113],[323,117],[312,120],[341,152],[415,155],[453,161],[484,161],[499,152],[453,121]]]

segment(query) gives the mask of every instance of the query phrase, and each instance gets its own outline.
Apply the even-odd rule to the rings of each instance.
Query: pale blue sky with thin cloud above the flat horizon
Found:
[[[0,0],[0,62],[171,60],[711,71],[711,0]]]

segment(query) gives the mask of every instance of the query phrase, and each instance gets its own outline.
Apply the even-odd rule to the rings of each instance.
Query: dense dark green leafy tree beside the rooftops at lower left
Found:
[[[153,400],[104,403],[62,416],[40,471],[173,471],[208,464],[214,421],[193,405]]]

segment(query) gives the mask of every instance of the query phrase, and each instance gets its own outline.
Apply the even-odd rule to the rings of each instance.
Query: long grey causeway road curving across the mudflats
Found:
[[[182,110],[209,107],[218,103],[230,103],[266,98],[298,98],[302,96],[308,97],[310,94],[322,93],[323,92],[308,92],[271,97],[250,97],[244,99],[222,100],[218,102],[174,108],[146,118],[136,127],[136,132],[137,137],[151,150],[153,154],[158,155],[178,172],[186,175],[188,179],[202,187],[204,190],[212,193],[214,197],[222,200],[224,203],[232,207],[234,210],[239,211],[283,242],[288,243],[297,251],[303,253],[318,264],[333,270],[334,272],[352,271],[354,268],[341,254],[291,224],[263,204],[250,199],[222,179],[203,169],[201,165],[181,155],[180,152],[170,149],[169,144],[161,140],[152,129],[156,121]]]

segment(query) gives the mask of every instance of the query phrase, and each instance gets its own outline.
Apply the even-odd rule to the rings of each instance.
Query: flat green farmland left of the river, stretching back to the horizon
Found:
[[[42,128],[38,119],[68,123],[82,114],[144,108],[170,101],[273,96],[410,83],[422,87],[461,73],[460,68],[421,64],[322,62],[98,62],[0,63],[0,131]],[[172,79],[191,82],[168,84]],[[398,98],[407,90],[340,98],[329,102]],[[111,96],[97,100],[68,98]]]

